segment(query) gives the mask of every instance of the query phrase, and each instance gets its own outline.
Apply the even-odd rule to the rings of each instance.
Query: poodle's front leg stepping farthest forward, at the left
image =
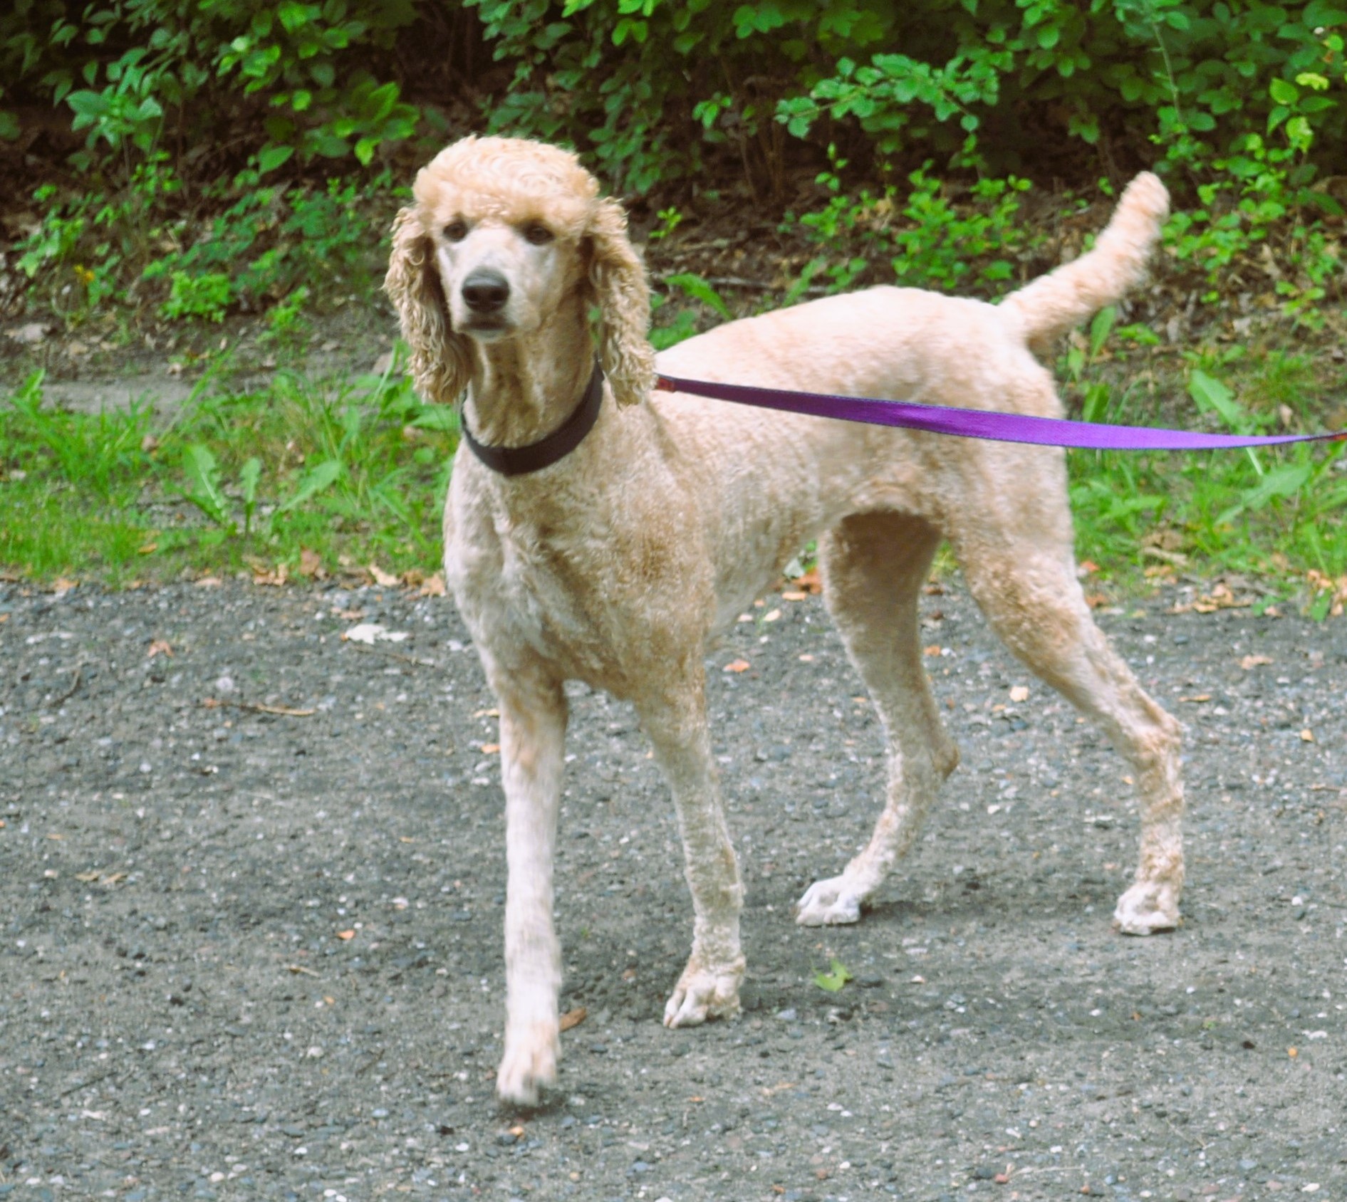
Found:
[[[489,672],[501,709],[505,786],[505,1055],[502,1100],[533,1105],[556,1081],[562,949],[552,927],[552,853],[562,793],[566,695],[550,681]]]

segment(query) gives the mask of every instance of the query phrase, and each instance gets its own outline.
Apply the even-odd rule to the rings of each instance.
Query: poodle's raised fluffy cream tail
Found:
[[[1030,347],[1047,349],[1141,280],[1168,215],[1169,192],[1154,175],[1142,172],[1127,184],[1113,219],[1087,253],[1012,292],[1001,311],[1018,324]]]

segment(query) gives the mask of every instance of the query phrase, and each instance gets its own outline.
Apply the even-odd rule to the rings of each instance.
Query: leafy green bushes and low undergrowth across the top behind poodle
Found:
[[[717,166],[779,210],[836,147],[800,218],[827,287],[878,250],[900,279],[993,288],[1022,179],[1157,166],[1208,295],[1278,232],[1281,303],[1312,322],[1342,275],[1319,182],[1347,172],[1344,35],[1347,0],[16,0],[0,139],[36,137],[57,105],[81,143],[19,248],[73,319],[144,295],[145,268],[164,312],[207,316],[350,269],[372,238],[342,210],[475,106],[628,195]],[[951,178],[974,186],[958,210],[932,183]],[[209,233],[183,209],[209,209]],[[229,296],[174,291],[175,272],[228,275]]]

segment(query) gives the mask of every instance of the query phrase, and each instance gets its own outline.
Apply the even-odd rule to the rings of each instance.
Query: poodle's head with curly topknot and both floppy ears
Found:
[[[621,205],[556,147],[465,137],[416,176],[415,203],[393,222],[384,288],[412,349],[428,400],[466,388],[467,339],[500,342],[536,331],[571,292],[597,304],[599,359],[620,404],[653,384],[645,269]]]

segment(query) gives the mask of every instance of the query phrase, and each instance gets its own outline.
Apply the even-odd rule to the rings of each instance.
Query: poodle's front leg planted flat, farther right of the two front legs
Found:
[[[664,1007],[664,1026],[690,1027],[711,1018],[731,1018],[740,1012],[744,980],[744,886],[711,761],[704,680],[698,672],[698,678],[678,689],[676,696],[638,703],[637,708],[674,791],[692,891],[692,954]]]

